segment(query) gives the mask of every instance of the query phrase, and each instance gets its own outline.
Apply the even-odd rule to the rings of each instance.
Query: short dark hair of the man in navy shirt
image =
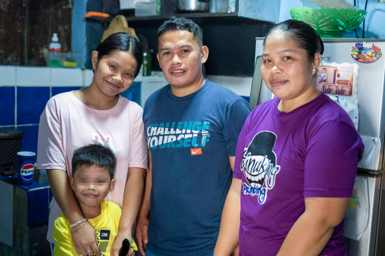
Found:
[[[187,30],[193,34],[194,40],[197,42],[198,46],[203,46],[201,28],[189,18],[177,18],[170,17],[166,20],[157,31],[157,42],[159,45],[159,37],[168,31],[172,30]]]

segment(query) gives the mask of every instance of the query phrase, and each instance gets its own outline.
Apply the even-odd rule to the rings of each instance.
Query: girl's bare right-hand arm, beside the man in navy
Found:
[[[131,241],[131,230],[135,222],[143,196],[146,169],[129,167],[123,195],[122,216],[119,221],[117,237],[111,246],[111,256],[118,256],[125,238]],[[132,253],[132,251],[131,251]],[[130,252],[128,253],[130,255]]]

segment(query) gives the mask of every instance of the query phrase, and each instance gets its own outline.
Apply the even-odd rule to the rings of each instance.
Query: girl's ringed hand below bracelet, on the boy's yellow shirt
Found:
[[[81,225],[83,224],[81,223],[72,227],[72,232],[78,229]],[[72,234],[72,243],[76,250],[78,250],[83,256],[93,254],[101,256],[98,249],[98,237],[96,231],[88,222]]]

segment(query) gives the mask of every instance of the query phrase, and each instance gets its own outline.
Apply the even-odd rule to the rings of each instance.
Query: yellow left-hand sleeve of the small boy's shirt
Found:
[[[64,218],[59,216],[53,227],[54,256],[81,255],[72,244],[72,234]]]

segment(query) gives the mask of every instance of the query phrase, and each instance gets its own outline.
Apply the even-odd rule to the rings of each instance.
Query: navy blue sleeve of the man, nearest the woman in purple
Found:
[[[235,156],[238,136],[250,112],[252,112],[252,109],[243,98],[238,99],[227,111],[223,137],[226,141],[227,153],[230,157]]]

